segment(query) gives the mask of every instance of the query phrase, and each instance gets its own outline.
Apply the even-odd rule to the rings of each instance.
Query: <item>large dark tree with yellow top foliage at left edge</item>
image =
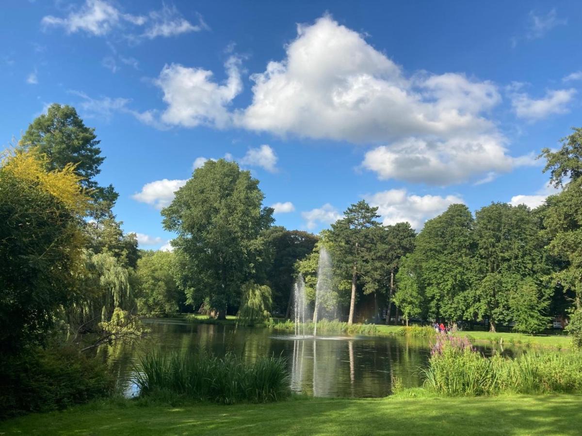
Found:
[[[0,164],[2,352],[41,344],[56,310],[78,298],[88,198],[73,165],[46,168],[36,150],[5,155]]]

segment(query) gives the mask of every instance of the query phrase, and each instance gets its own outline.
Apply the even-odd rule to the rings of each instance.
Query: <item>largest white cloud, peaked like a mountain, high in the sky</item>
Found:
[[[251,130],[351,142],[489,130],[480,116],[495,85],[462,74],[405,77],[363,35],[329,16],[297,27],[286,59],[253,74],[253,102],[237,114]]]

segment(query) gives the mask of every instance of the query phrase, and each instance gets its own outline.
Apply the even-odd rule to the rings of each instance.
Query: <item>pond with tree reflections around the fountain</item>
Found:
[[[193,353],[204,348],[221,356],[233,352],[244,362],[282,355],[293,391],[327,397],[382,397],[391,394],[393,377],[404,387],[423,383],[430,343],[421,338],[334,337],[293,339],[292,334],[263,327],[194,324],[179,319],[144,320],[149,333],[131,343],[102,346],[98,354],[115,374],[127,396],[136,365],[149,351]],[[491,349],[483,349],[491,353]]]

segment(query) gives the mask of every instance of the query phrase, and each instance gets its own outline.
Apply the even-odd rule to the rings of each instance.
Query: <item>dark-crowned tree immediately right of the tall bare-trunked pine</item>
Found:
[[[416,231],[409,223],[396,223],[393,226],[373,228],[374,249],[368,252],[365,273],[365,293],[388,290],[388,310],[386,324],[390,322],[392,296],[395,291],[395,276],[400,259],[414,249]]]

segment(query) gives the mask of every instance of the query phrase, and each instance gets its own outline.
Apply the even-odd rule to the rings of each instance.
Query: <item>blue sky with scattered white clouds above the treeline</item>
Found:
[[[141,248],[207,159],[314,233],[360,199],[385,224],[452,203],[535,207],[542,148],[582,120],[577,1],[3,0],[0,146],[57,102],[94,127],[98,181]]]

